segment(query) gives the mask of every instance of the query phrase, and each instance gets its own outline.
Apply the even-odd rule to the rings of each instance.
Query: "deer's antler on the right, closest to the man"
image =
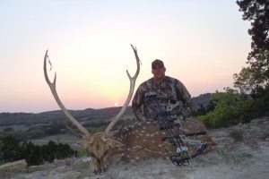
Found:
[[[117,116],[111,121],[110,124],[108,124],[108,127],[106,129],[106,131],[104,132],[104,137],[108,137],[108,132],[112,129],[112,127],[117,124],[117,121],[119,120],[119,117],[121,115],[123,115],[125,112],[126,112],[126,108],[128,107],[128,104],[130,103],[130,100],[133,96],[133,93],[134,93],[134,85],[135,85],[135,81],[136,81],[136,78],[140,72],[140,59],[137,55],[137,49],[136,47],[134,47],[132,44],[131,44],[131,47],[133,48],[134,50],[134,56],[135,56],[135,59],[136,59],[136,72],[134,74],[134,77],[131,77],[130,73],[128,72],[128,70],[126,70],[127,72],[127,75],[128,75],[128,78],[130,80],[130,90],[129,90],[129,94],[128,94],[128,97],[126,98],[126,102],[124,104],[124,106],[121,108],[121,110],[119,111],[119,113],[117,114]]]

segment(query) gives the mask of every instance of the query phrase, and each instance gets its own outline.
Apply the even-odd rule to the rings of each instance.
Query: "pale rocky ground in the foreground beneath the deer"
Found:
[[[68,158],[30,166],[20,173],[4,173],[1,178],[269,178],[269,117],[208,133],[217,145],[212,152],[192,159],[189,166],[177,167],[168,159],[150,158],[137,163],[121,161],[112,164],[105,175],[94,175],[87,158]]]

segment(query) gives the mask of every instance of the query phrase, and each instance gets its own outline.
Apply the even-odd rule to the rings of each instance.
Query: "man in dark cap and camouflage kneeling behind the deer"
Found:
[[[132,102],[134,115],[138,121],[152,121],[154,114],[150,107],[145,105],[145,97],[152,92],[157,93],[157,98],[162,110],[167,110],[168,105],[174,105],[173,112],[176,114],[190,114],[191,101],[190,94],[181,81],[165,75],[166,68],[163,62],[156,59],[152,62],[153,77],[144,81],[136,90]],[[177,101],[178,104],[176,107]],[[178,110],[178,111],[177,111]]]

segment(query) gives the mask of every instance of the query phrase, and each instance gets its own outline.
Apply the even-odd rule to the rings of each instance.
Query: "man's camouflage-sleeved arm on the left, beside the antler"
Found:
[[[143,99],[144,99],[143,88],[142,88],[142,85],[140,85],[134,94],[134,98],[132,102],[134,115],[138,121],[146,121],[146,118],[143,115],[143,110],[142,110]]]

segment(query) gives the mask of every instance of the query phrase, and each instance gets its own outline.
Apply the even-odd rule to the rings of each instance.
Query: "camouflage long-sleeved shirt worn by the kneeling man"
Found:
[[[134,115],[139,121],[148,121],[153,119],[152,111],[144,105],[145,95],[155,92],[159,104],[163,110],[166,110],[169,102],[181,101],[184,107],[190,107],[190,94],[181,81],[165,76],[161,82],[154,81],[153,78],[144,81],[136,90],[132,102]]]

